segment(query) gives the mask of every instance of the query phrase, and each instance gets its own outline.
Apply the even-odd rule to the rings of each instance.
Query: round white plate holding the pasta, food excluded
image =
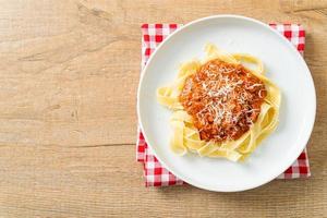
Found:
[[[171,111],[157,102],[156,89],[175,78],[180,63],[203,58],[206,43],[258,57],[267,76],[281,89],[278,129],[245,164],[195,155],[180,157],[169,149]],[[268,25],[238,15],[205,17],[175,31],[152,55],[137,94],[141,128],[164,167],[194,186],[221,192],[253,189],[282,173],[304,149],[315,111],[314,83],[295,48]]]

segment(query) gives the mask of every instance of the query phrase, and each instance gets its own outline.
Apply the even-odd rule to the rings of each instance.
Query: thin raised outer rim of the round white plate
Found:
[[[144,128],[143,128],[143,122],[142,122],[142,113],[141,113],[141,110],[140,110],[140,99],[141,99],[141,92],[142,92],[142,84],[143,84],[143,78],[147,72],[147,69],[148,69],[148,65],[149,63],[152,62],[152,60],[156,57],[156,53],[161,49],[161,47],[170,40],[170,38],[172,38],[175,34],[178,34],[179,32],[181,32],[182,29],[184,28],[187,28],[189,26],[192,26],[196,23],[201,23],[201,22],[204,22],[204,21],[208,21],[208,20],[216,20],[216,19],[240,19],[240,20],[245,20],[245,21],[250,21],[250,22],[253,22],[253,23],[256,23],[256,24],[259,24],[261,26],[269,29],[270,32],[275,33],[276,35],[278,35],[278,37],[283,40],[284,43],[287,43],[287,45],[289,45],[288,47],[290,49],[292,49],[293,51],[295,51],[294,53],[296,53],[298,58],[301,59],[301,61],[304,63],[304,68],[305,68],[305,71],[306,73],[308,74],[308,81],[307,83],[311,83],[312,85],[312,108],[311,110],[313,110],[313,114],[311,117],[311,120],[308,122],[306,122],[306,132],[305,132],[305,136],[303,136],[303,140],[302,140],[302,146],[301,146],[301,149],[300,149],[300,145],[299,145],[299,152],[294,153],[294,155],[292,156],[293,158],[289,158],[289,161],[287,161],[287,167],[283,167],[283,168],[280,168],[282,170],[280,170],[280,172],[275,173],[271,175],[271,178],[269,178],[268,180],[264,181],[264,182],[259,182],[259,183],[254,183],[252,185],[249,185],[249,186],[242,186],[242,187],[239,187],[239,189],[211,189],[211,187],[207,187],[206,185],[202,185],[202,184],[198,184],[194,181],[190,181],[184,175],[180,175],[179,173],[175,173],[174,170],[171,170],[171,168],[169,168],[165,161],[162,161],[160,159],[160,157],[157,155],[156,153],[156,149],[150,145],[148,138],[147,138],[147,134],[145,133],[144,131]],[[140,76],[140,82],[138,82],[138,87],[137,87],[137,97],[136,97],[136,100],[137,100],[137,105],[136,105],[136,110],[137,110],[137,122],[138,122],[138,125],[143,132],[143,136],[145,138],[145,141],[147,142],[147,145],[152,148],[152,152],[153,154],[156,156],[156,158],[158,159],[158,161],[162,165],[162,167],[165,167],[167,170],[169,170],[171,173],[173,173],[175,177],[178,177],[179,179],[187,182],[189,184],[192,184],[193,186],[196,186],[196,187],[199,187],[199,189],[203,189],[203,190],[208,190],[208,191],[214,191],[214,192],[240,192],[240,191],[246,191],[246,190],[252,190],[252,189],[255,189],[255,187],[259,187],[264,184],[267,184],[268,182],[272,181],[274,179],[276,179],[280,173],[282,173],[284,170],[287,170],[296,159],[298,157],[300,156],[300,154],[303,152],[303,149],[306,147],[307,145],[307,142],[311,137],[311,134],[313,132],[313,128],[314,128],[314,123],[315,123],[315,119],[316,119],[316,89],[315,89],[315,85],[314,85],[314,80],[312,77],[312,73],[304,60],[304,58],[300,55],[300,52],[295,49],[295,47],[284,37],[282,36],[277,29],[275,28],[271,28],[269,25],[267,25],[266,23],[263,23],[258,20],[255,20],[255,19],[252,19],[252,17],[247,17],[247,16],[243,16],[243,15],[237,15],[237,14],[219,14],[219,15],[211,15],[211,16],[206,16],[206,17],[202,17],[202,19],[197,19],[197,20],[194,20],[181,27],[179,27],[178,29],[175,29],[172,34],[170,34],[169,36],[166,37],[166,39],[155,49],[155,51],[152,53],[152,56],[149,57],[149,59],[147,60],[147,64],[144,66],[144,69],[142,70],[141,72],[141,76]]]

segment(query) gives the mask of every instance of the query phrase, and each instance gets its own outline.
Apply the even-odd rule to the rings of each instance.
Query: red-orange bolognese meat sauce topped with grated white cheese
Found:
[[[257,120],[265,84],[241,64],[210,60],[190,75],[179,96],[201,140],[238,140]]]

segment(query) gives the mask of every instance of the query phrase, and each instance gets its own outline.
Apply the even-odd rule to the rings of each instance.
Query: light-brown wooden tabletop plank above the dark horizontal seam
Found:
[[[0,29],[5,29],[0,35],[1,144],[134,143],[141,24],[185,23],[227,13],[233,5],[215,1],[190,5],[179,1],[177,7],[172,7],[173,1],[46,2],[31,1],[26,8],[12,2],[0,9]],[[279,7],[269,4],[271,9]],[[232,8],[233,13],[305,26],[306,60],[317,83],[318,97],[325,97],[326,86],[322,84],[326,83],[327,45],[326,25],[322,24],[326,14],[277,10],[267,13],[266,3],[261,1],[238,5]],[[33,8],[43,12],[34,13]],[[183,16],[178,19],[173,14]],[[11,25],[4,19],[10,16],[15,17]],[[44,16],[47,19],[43,20]],[[323,120],[326,111],[324,104],[318,120]]]

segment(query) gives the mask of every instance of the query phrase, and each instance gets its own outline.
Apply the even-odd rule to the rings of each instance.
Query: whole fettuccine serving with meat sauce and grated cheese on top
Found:
[[[204,61],[183,63],[178,77],[157,89],[158,102],[173,111],[170,148],[243,160],[276,129],[280,90],[259,59],[211,44],[205,51]]]

